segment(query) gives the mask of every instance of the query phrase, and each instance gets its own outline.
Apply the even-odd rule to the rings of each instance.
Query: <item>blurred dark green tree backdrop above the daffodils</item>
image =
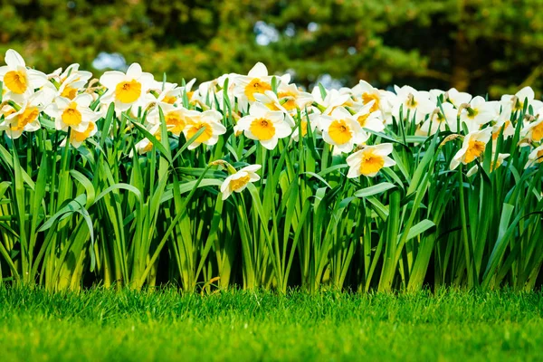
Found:
[[[44,71],[100,52],[158,79],[212,79],[254,62],[346,85],[491,96],[543,89],[543,0],[0,0],[0,52]],[[258,42],[257,42],[258,40]],[[262,45],[265,44],[265,45]],[[96,63],[95,63],[96,64]],[[95,71],[96,75],[100,71]]]

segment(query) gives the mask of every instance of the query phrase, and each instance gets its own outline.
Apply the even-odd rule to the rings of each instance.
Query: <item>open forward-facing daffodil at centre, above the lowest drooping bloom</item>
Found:
[[[236,130],[243,131],[247,138],[258,140],[268,149],[275,148],[280,138],[289,137],[292,132],[283,111],[270,110],[258,102],[252,104],[248,116],[238,120]]]

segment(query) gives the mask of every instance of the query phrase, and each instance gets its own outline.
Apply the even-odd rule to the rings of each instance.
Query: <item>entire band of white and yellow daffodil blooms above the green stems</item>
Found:
[[[500,100],[486,100],[455,89],[414,90],[409,86],[378,90],[366,81],[353,88],[311,92],[291,83],[291,76],[272,76],[262,63],[248,74],[224,74],[195,87],[195,80],[182,85],[156,81],[138,63],[126,72],[106,71],[92,80],[89,71],[72,64],[51,74],[26,66],[20,54],[9,50],[0,67],[2,97],[0,131],[7,138],[52,127],[64,132],[72,147],[80,148],[97,131],[97,122],[110,105],[119,119],[138,119],[148,133],[160,140],[163,126],[169,136],[191,140],[188,149],[213,147],[221,138],[246,138],[262,148],[281,151],[303,138],[322,140],[335,156],[346,157],[349,178],[376,176],[383,167],[395,166],[393,145],[376,143],[397,123],[414,127],[414,135],[430,137],[448,132],[463,139],[448,167],[471,165],[491,142],[492,169],[507,162],[507,153],[497,149],[499,138],[510,138],[519,129],[519,146],[529,147],[533,167],[543,159],[543,102],[529,87]],[[227,100],[227,101],[224,101]],[[524,117],[517,119],[519,112]],[[53,126],[51,126],[53,125]],[[228,132],[231,129],[231,132]],[[205,146],[202,146],[205,145]],[[151,139],[138,140],[139,155],[153,150]],[[135,157],[134,155],[131,155]],[[235,171],[221,191],[224,197],[241,192],[260,179],[259,165]]]

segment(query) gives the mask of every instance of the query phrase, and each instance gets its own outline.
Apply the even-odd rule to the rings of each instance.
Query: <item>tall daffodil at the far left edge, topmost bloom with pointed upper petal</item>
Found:
[[[29,97],[34,90],[47,83],[47,75],[42,71],[27,69],[23,57],[9,49],[5,52],[5,66],[0,67],[0,81],[7,90]]]

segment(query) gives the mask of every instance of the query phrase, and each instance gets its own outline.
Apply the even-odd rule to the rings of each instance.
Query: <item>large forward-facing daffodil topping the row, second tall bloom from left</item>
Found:
[[[146,93],[153,85],[153,75],[141,71],[138,63],[132,63],[126,74],[122,71],[106,71],[100,83],[108,88],[101,98],[104,104],[115,103],[115,110],[129,110],[130,107],[145,106]]]

